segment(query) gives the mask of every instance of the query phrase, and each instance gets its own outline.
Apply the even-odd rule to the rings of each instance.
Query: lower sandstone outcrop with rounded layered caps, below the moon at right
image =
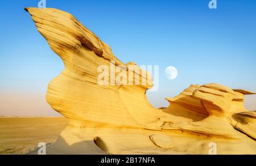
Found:
[[[164,112],[173,113],[175,105],[179,105],[180,108],[184,108],[180,109],[179,116],[192,118],[195,121],[208,116],[224,117],[234,129],[256,139],[256,112],[249,112],[243,105],[244,95],[251,94],[255,93],[232,90],[216,83],[191,85],[176,97],[166,98],[170,102],[170,107]],[[188,110],[197,114],[188,114]],[[201,114],[201,119],[198,113]]]

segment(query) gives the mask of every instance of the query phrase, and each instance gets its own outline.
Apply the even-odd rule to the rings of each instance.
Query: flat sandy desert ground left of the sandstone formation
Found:
[[[0,118],[0,154],[27,154],[39,142],[55,142],[67,125],[63,117]]]

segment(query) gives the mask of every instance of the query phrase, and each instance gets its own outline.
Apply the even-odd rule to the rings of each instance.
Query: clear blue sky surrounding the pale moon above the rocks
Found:
[[[121,61],[159,65],[159,91],[147,96],[160,107],[167,105],[164,97],[190,84],[216,82],[256,91],[256,1],[217,0],[215,10],[208,8],[209,1],[47,0],[46,7],[73,14]],[[64,66],[23,9],[38,2],[0,1],[0,91],[34,91],[44,100],[48,82]],[[164,76],[167,66],[177,68],[176,79]]]

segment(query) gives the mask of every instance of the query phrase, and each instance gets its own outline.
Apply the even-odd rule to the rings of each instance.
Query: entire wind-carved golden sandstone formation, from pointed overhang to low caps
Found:
[[[243,107],[253,94],[220,84],[191,85],[155,109],[145,93],[151,75],[130,70],[108,45],[67,12],[26,8],[36,28],[64,62],[65,70],[48,86],[47,102],[69,125],[47,154],[256,154],[256,115]],[[134,85],[111,79],[98,83],[98,67],[133,75]],[[143,84],[143,79],[148,82]],[[255,93],[254,93],[255,94]]]

